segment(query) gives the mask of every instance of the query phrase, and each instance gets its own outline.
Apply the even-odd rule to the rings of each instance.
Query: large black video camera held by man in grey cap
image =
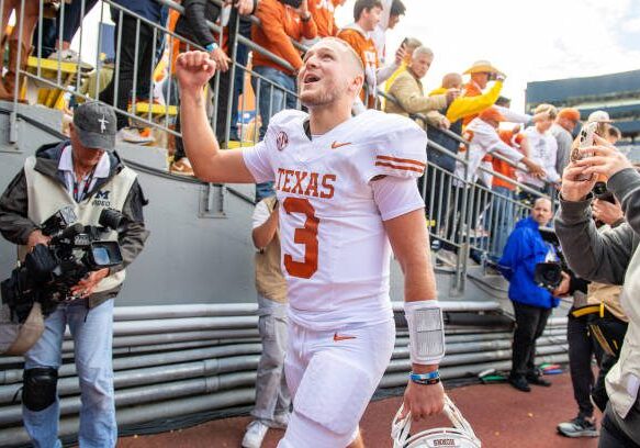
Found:
[[[2,281],[2,303],[23,322],[34,302],[42,304],[46,316],[58,303],[76,299],[70,289],[87,273],[122,262],[120,244],[102,238],[110,229],[121,229],[125,222],[122,213],[103,209],[100,226],[82,225],[72,208],[60,209],[41,225],[42,233],[52,237],[48,245],[35,246]]]

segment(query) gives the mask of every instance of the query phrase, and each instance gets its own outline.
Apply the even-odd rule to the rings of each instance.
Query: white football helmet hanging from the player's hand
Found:
[[[453,424],[452,428],[434,428],[426,429],[413,436],[409,436],[411,430],[411,413],[403,419],[400,419],[403,406],[393,418],[391,424],[391,438],[393,439],[393,448],[440,448],[440,447],[456,447],[456,448],[480,448],[480,439],[473,433],[469,422],[464,419],[458,407],[445,395],[445,414]]]

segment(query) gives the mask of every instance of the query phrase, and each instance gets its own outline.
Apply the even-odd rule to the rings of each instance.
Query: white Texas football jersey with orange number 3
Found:
[[[278,195],[290,317],[318,331],[384,322],[391,247],[371,183],[422,176],[427,135],[372,110],[312,138],[307,121],[301,111],[280,112],[243,153],[256,181],[273,181]]]

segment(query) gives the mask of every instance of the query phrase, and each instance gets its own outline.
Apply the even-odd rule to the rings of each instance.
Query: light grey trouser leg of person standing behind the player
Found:
[[[291,395],[284,378],[287,351],[287,304],[258,294],[258,328],[262,355],[256,379],[256,406],[251,415],[267,425],[274,417],[289,414]]]

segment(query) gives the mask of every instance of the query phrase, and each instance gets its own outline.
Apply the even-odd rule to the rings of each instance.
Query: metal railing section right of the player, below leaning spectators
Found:
[[[385,101],[392,101],[400,105],[394,97],[381,91],[378,93]],[[427,123],[427,117],[424,114],[409,114],[409,117]],[[427,134],[429,134],[429,128],[431,133],[436,132],[428,124],[425,124],[425,128]],[[523,201],[519,197],[526,193],[532,200],[537,198],[553,200],[553,198],[495,171],[493,167],[487,168],[481,165],[475,173],[470,173],[470,142],[449,130],[437,131],[456,142],[457,145],[465,147],[465,150],[458,152],[457,148],[451,150],[451,148],[445,148],[429,138],[428,152],[437,155],[436,159],[448,158],[449,163],[441,164],[427,158],[427,169],[424,181],[420,183],[420,193],[425,200],[429,234],[431,239],[436,242],[433,246],[439,250],[445,250],[439,253],[437,258],[443,259],[445,264],[453,268],[451,292],[462,294],[465,288],[469,259],[472,258],[481,264],[485,259],[497,260],[515,223],[529,214],[532,201]],[[501,154],[492,153],[492,157],[505,161],[517,170],[528,171],[523,164],[516,164]],[[452,165],[456,165],[456,169],[451,169]],[[509,188],[495,189],[492,184],[473,181],[475,176],[501,179]],[[442,256],[442,254],[447,256]]]

